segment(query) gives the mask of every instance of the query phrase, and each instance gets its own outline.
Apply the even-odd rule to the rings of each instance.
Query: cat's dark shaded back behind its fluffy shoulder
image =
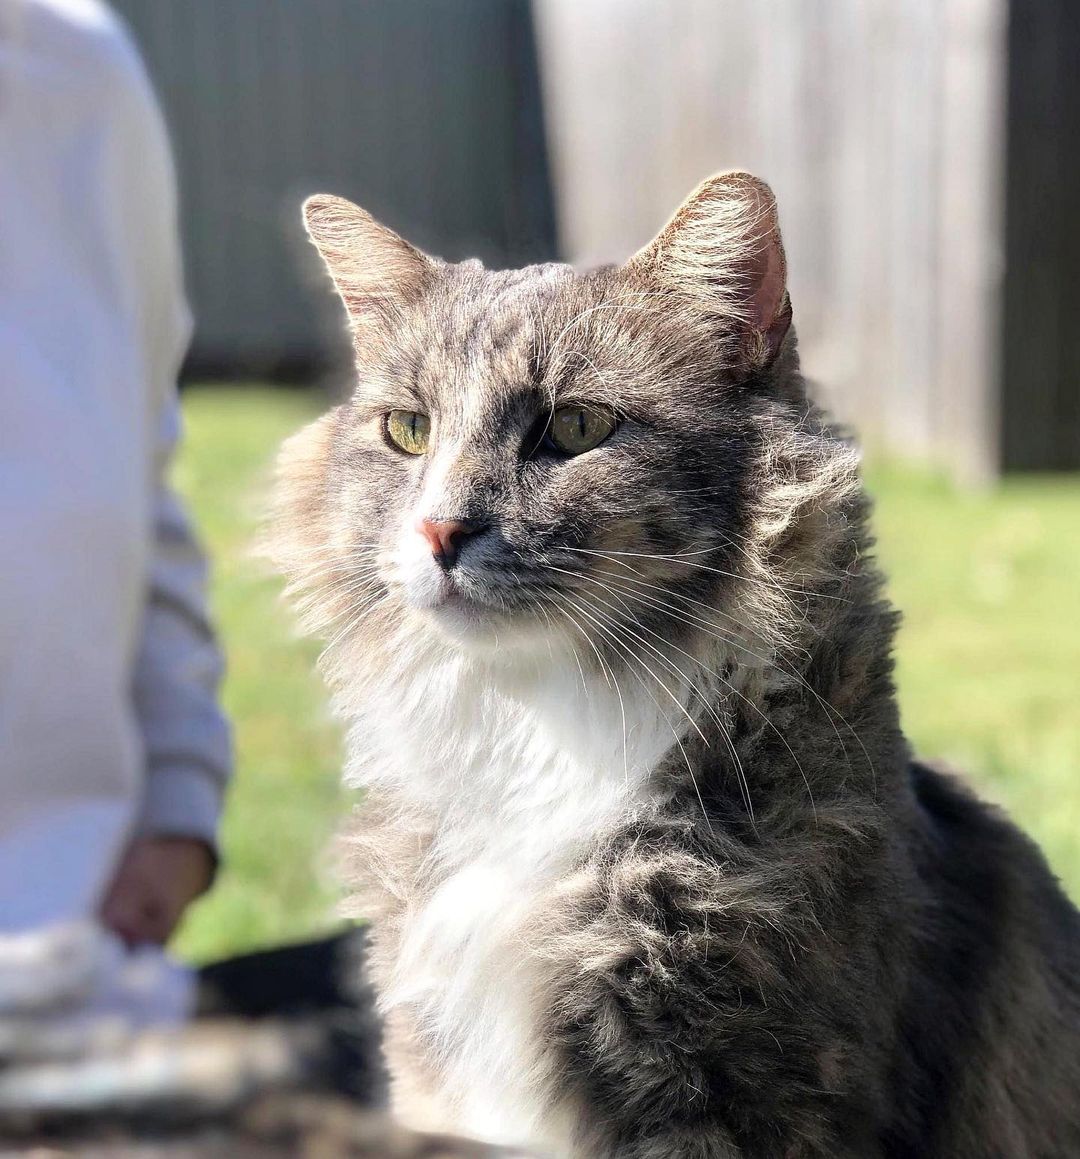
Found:
[[[915,763],[911,788],[921,904],[888,1153],[1080,1156],[1080,913],[954,777]]]

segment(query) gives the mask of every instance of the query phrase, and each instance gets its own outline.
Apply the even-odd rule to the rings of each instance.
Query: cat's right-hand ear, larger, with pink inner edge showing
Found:
[[[751,367],[767,366],[791,323],[776,198],[750,173],[703,181],[629,269],[739,331]]]

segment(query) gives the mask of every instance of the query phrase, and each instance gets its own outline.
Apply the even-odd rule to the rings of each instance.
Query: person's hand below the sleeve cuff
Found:
[[[163,945],[209,888],[213,869],[213,853],[197,838],[137,837],[121,859],[101,919],[129,946]]]

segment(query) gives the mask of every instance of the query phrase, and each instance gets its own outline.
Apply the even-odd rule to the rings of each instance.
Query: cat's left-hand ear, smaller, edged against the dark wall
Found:
[[[308,197],[304,225],[355,328],[400,316],[435,272],[432,258],[344,197]]]

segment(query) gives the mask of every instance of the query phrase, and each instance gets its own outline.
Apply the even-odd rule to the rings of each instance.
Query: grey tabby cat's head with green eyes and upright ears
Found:
[[[312,627],[618,657],[785,588],[778,535],[798,539],[829,439],[805,427],[761,181],[709,178],[584,274],[447,264],[335,197],[304,212],[357,365],[282,459],[278,556]]]

